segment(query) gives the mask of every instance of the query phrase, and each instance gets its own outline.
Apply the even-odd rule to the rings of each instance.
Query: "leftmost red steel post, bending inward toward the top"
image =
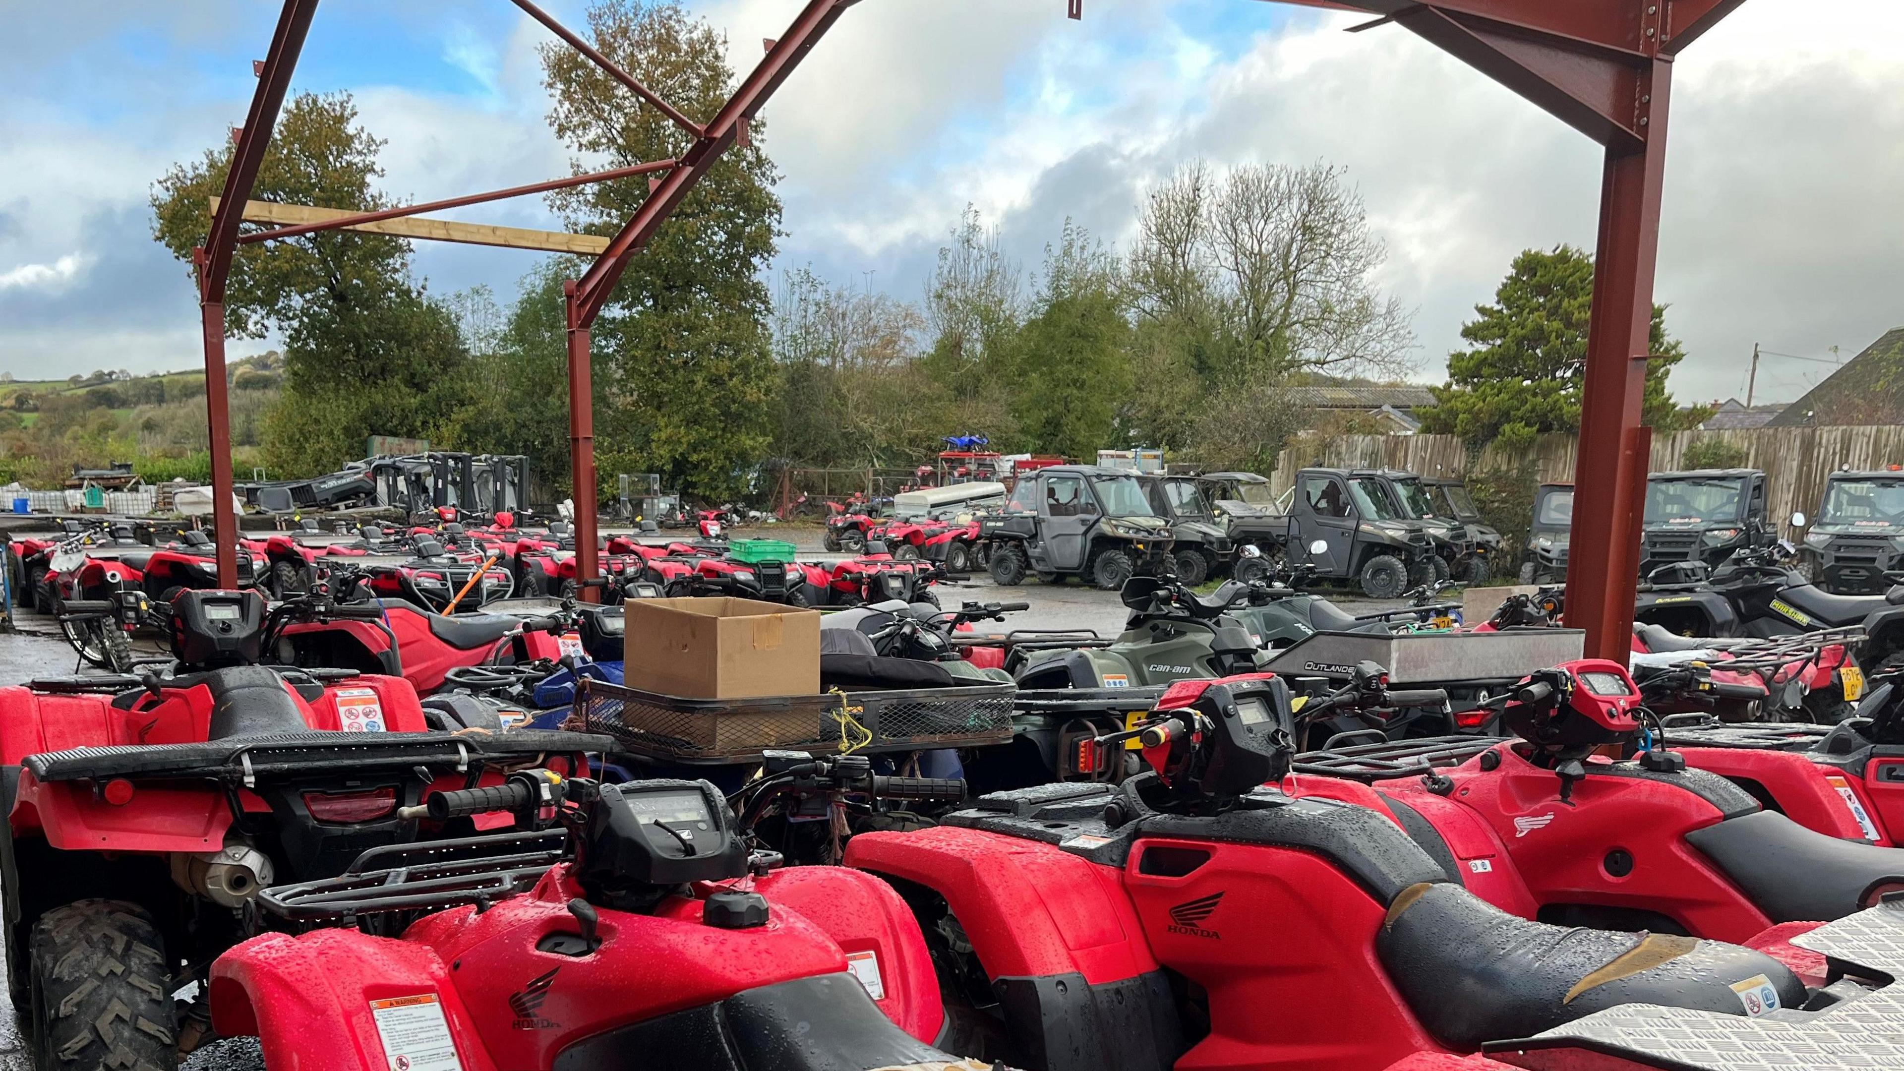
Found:
[[[194,257],[198,265],[198,316],[206,343],[206,431],[211,446],[211,539],[217,545],[219,587],[238,587],[238,515],[232,509],[232,436],[230,400],[225,389],[225,280],[230,276],[238,225],[244,223],[244,204],[257,183],[257,168],[265,162],[270,131],[278,126],[284,93],[291,86],[291,71],[310,32],[318,0],[284,0],[278,29],[270,36],[270,51],[257,69],[257,91],[251,111],[232,151],[230,172],[225,173],[225,198],[211,213],[211,232]]]

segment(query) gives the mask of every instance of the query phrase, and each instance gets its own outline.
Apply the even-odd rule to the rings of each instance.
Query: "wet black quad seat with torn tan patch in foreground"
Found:
[[[1733,985],[1761,976],[1778,1006],[1807,999],[1797,976],[1759,951],[1531,922],[1449,882],[1401,890],[1375,949],[1415,1016],[1451,1048],[1533,1037],[1616,1004],[1740,1016]]]

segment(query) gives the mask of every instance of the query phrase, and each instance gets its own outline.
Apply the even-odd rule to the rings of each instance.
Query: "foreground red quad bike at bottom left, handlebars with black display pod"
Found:
[[[863,795],[902,798],[946,785],[863,781]],[[777,856],[748,852],[706,781],[529,770],[415,810],[505,810],[520,831],[463,842],[486,856],[379,850],[343,877],[267,890],[261,905],[286,924],[373,926],[225,953],[211,1016],[234,1063],[986,1071],[933,1048],[939,985],[893,888],[840,867],[771,869]],[[560,829],[535,831],[550,821]]]

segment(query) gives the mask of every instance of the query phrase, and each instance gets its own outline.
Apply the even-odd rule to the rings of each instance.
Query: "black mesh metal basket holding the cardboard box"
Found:
[[[762,751],[918,751],[1011,743],[1011,684],[828,692],[762,699],[682,699],[583,678],[575,709],[588,732],[634,755],[676,762],[752,762]]]

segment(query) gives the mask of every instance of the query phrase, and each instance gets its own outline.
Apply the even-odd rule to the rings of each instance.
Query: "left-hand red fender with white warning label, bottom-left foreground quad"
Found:
[[[219,1035],[257,1037],[267,1067],[396,1067],[398,1054],[387,1052],[375,1008],[387,1008],[388,1021],[392,1012],[402,1016],[404,1008],[432,1002],[461,1065],[468,1071],[497,1067],[449,983],[447,964],[434,949],[411,941],[354,930],[318,930],[303,938],[263,934],[211,964],[209,999]]]

